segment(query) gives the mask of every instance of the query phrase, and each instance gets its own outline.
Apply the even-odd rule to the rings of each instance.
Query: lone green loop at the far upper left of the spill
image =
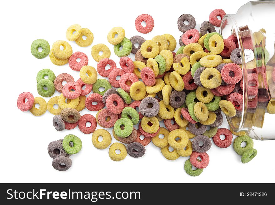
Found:
[[[41,47],[41,53],[38,51],[38,48]],[[45,58],[50,53],[50,44],[44,39],[37,39],[32,42],[31,45],[32,55],[38,59]]]

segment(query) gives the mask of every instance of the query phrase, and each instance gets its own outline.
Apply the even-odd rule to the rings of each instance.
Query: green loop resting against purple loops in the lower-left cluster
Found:
[[[71,146],[70,142],[73,143],[73,146]],[[68,134],[64,137],[62,146],[65,152],[68,154],[77,154],[82,148],[82,142],[81,139],[79,139],[74,134]]]

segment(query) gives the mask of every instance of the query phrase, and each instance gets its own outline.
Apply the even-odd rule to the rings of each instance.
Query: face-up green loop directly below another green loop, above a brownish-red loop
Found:
[[[121,125],[124,125],[124,129],[120,128]],[[128,137],[133,131],[133,122],[128,118],[120,118],[114,125],[114,131],[119,137]]]

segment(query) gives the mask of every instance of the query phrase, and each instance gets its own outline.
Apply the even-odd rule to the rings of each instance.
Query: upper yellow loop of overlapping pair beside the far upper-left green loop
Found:
[[[63,47],[63,49],[62,49]],[[73,49],[66,41],[55,41],[53,43],[53,55],[58,59],[68,59],[73,54]]]

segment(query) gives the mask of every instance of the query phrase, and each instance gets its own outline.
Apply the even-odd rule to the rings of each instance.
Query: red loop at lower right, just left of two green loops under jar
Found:
[[[225,139],[220,138],[220,135],[222,134],[225,136]],[[214,144],[216,144],[217,147],[220,147],[220,148],[229,147],[232,143],[232,138],[233,138],[232,133],[230,132],[229,129],[226,129],[226,128],[219,128],[217,131],[217,134],[215,134],[212,137]]]

